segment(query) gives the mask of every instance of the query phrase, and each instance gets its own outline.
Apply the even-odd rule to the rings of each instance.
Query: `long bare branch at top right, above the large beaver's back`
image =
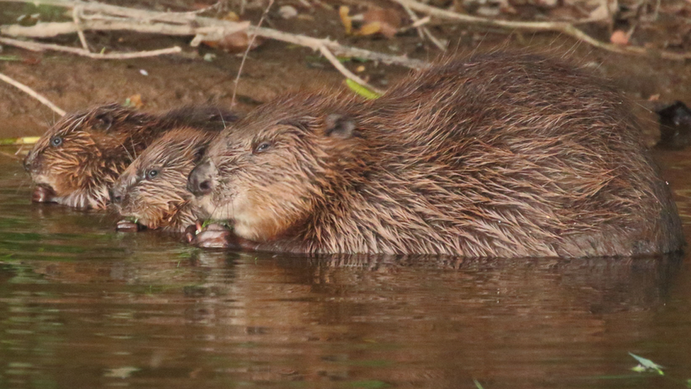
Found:
[[[645,47],[632,47],[632,46],[620,46],[612,45],[612,43],[605,43],[600,40],[596,40],[590,35],[584,33],[582,30],[576,28],[571,23],[566,22],[525,22],[525,21],[502,21],[489,18],[480,18],[477,16],[464,15],[462,13],[446,11],[444,9],[439,9],[433,6],[428,6],[427,4],[422,4],[416,0],[394,0],[396,3],[401,4],[401,6],[408,7],[413,11],[418,11],[425,13],[429,16],[435,18],[459,21],[462,23],[475,24],[479,26],[489,26],[498,28],[508,28],[508,29],[520,29],[520,30],[532,30],[532,31],[550,31],[555,33],[563,33],[564,35],[569,35],[572,38],[581,40],[588,45],[593,45],[599,47],[603,50],[618,52],[620,54],[628,55],[643,55],[649,57],[661,57],[666,60],[688,60],[691,59],[691,52],[679,53],[670,52],[668,50],[653,50]],[[583,23],[583,21],[581,21]]]

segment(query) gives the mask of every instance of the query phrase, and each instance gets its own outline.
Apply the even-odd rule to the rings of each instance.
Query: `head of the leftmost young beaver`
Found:
[[[64,116],[24,159],[24,168],[38,184],[34,200],[105,208],[106,184],[112,184],[141,150],[132,142],[132,133],[151,120],[117,104]]]

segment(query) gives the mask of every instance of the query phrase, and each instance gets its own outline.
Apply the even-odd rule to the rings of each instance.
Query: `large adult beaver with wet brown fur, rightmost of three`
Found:
[[[445,60],[372,101],[280,97],[222,131],[188,187],[233,228],[200,246],[501,258],[684,244],[622,95],[532,54]]]

